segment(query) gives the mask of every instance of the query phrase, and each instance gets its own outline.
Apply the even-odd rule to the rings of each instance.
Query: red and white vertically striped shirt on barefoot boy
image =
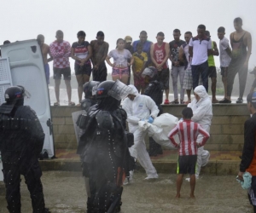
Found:
[[[178,147],[177,142],[173,136],[179,137],[179,155],[196,155],[197,144],[196,139],[199,134],[203,135],[203,140],[199,144],[200,147],[204,146],[210,137],[206,130],[201,128],[200,124],[196,124],[191,120],[184,120],[183,122],[176,125],[176,127],[169,133],[169,139],[171,140],[174,147]]]

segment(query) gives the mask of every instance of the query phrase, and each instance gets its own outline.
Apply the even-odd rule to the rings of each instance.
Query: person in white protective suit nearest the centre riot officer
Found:
[[[147,131],[140,130],[138,122],[140,120],[148,120],[148,123],[152,124],[154,118],[156,118],[159,113],[159,109],[150,97],[140,95],[135,86],[129,85],[129,87],[131,87],[132,93],[128,95],[122,104],[123,109],[127,113],[129,131],[134,135],[134,145],[130,147],[129,150],[131,156],[137,158],[144,170],[146,170],[147,177],[145,180],[158,178],[154,165],[149,158],[144,141]],[[128,181],[132,180],[132,176],[133,172],[130,171],[130,178]]]

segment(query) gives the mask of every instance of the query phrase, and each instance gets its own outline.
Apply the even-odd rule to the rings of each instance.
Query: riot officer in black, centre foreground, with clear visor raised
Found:
[[[81,118],[84,134],[77,153],[83,162],[83,175],[89,177],[89,213],[120,210],[122,183],[129,176],[128,147],[133,143],[133,135],[125,132],[126,112],[119,105],[130,90],[119,80],[100,83],[96,91],[98,103]]]

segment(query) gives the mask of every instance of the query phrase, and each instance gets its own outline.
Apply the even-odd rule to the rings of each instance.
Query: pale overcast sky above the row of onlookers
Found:
[[[243,28],[253,37],[249,66],[256,66],[255,0],[0,0],[0,6],[1,44],[4,40],[36,38],[38,34],[44,34],[45,43],[49,44],[55,40],[57,30],[62,30],[64,39],[72,44],[81,30],[87,41],[103,31],[110,50],[119,37],[129,35],[136,40],[144,30],[148,40],[155,43],[157,32],[164,32],[169,43],[173,40],[173,29],[180,29],[183,38],[186,31],[196,35],[199,24],[207,26],[212,40],[218,43],[218,27],[224,26],[229,38],[230,32],[234,32],[234,18],[241,17]],[[70,61],[73,67],[73,59]],[[218,57],[215,61],[219,66]]]

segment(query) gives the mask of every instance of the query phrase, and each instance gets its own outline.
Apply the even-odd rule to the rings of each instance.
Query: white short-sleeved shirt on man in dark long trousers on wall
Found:
[[[212,40],[209,37],[191,37],[189,46],[193,47],[193,58],[191,65],[201,65],[208,60],[208,49],[212,49]]]

